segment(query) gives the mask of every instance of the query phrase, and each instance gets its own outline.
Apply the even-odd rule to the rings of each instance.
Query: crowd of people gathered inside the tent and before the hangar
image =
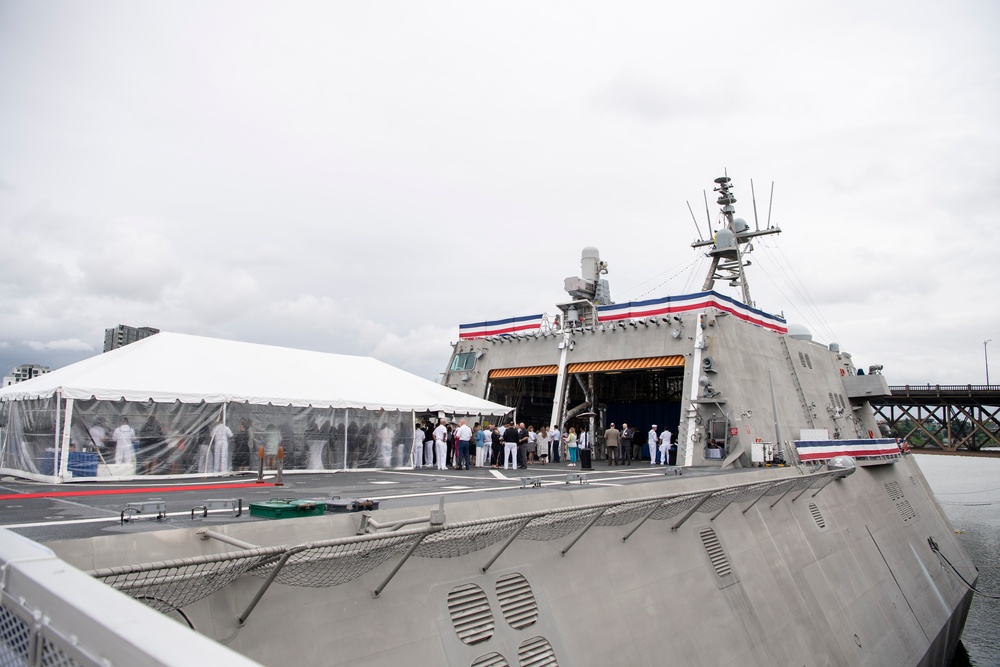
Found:
[[[405,422],[404,422],[405,423]],[[253,470],[263,454],[265,469],[274,469],[279,448],[284,449],[286,469],[322,470],[340,467],[408,467],[438,470],[470,470],[472,467],[523,470],[529,465],[565,461],[580,464],[590,451],[606,458],[608,465],[631,465],[648,445],[650,464],[670,462],[672,433],[648,433],[614,423],[603,438],[591,442],[586,428],[570,425],[565,433],[556,426],[525,425],[513,420],[504,424],[470,426],[465,419],[456,424],[446,419],[420,420],[412,442],[405,430],[397,435],[387,421],[351,422],[348,425],[309,420],[301,431],[293,432],[267,423],[255,429],[249,418],[240,418],[234,429],[220,417],[203,421],[194,433],[168,436],[156,417],[151,416],[138,430],[127,417],[111,428],[101,416],[73,438],[77,451],[97,451],[105,463],[128,466],[132,474],[228,473]],[[400,424],[395,425],[399,428]],[[262,452],[258,450],[262,449]],[[110,454],[113,453],[113,459]]]

